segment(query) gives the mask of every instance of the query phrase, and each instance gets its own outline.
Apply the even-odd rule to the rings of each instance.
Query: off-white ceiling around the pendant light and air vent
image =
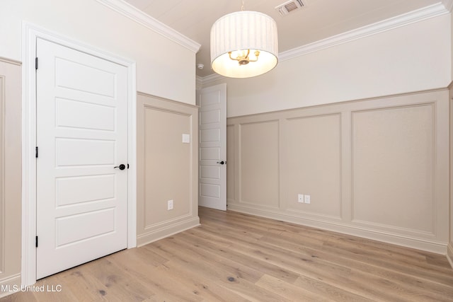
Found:
[[[242,0],[125,0],[200,43],[197,76],[214,74],[210,68],[210,30],[225,15],[240,11]],[[280,16],[275,6],[287,0],[245,0],[246,11],[260,11],[277,23],[279,52],[292,50],[333,35],[355,30],[403,13],[415,11],[440,0],[302,0],[304,7]],[[196,68],[194,66],[194,68]]]

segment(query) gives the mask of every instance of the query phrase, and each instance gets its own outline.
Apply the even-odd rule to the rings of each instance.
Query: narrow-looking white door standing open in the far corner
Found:
[[[226,84],[199,95],[200,180],[198,203],[226,210]]]

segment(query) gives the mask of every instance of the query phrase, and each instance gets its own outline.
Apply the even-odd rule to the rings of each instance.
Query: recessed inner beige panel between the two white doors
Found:
[[[145,200],[144,227],[161,220],[190,216],[190,144],[182,144],[182,134],[190,133],[190,115],[144,107]],[[167,210],[167,200],[175,207]]]

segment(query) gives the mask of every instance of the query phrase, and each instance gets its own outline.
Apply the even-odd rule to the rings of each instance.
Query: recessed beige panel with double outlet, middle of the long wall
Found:
[[[283,146],[289,211],[341,218],[340,114],[286,120]],[[310,203],[298,202],[298,194]]]

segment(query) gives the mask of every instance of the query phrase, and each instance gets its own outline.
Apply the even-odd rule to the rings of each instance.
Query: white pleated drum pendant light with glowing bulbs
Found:
[[[278,62],[277,24],[257,11],[222,16],[211,28],[211,66],[222,76],[250,78],[273,69]]]

